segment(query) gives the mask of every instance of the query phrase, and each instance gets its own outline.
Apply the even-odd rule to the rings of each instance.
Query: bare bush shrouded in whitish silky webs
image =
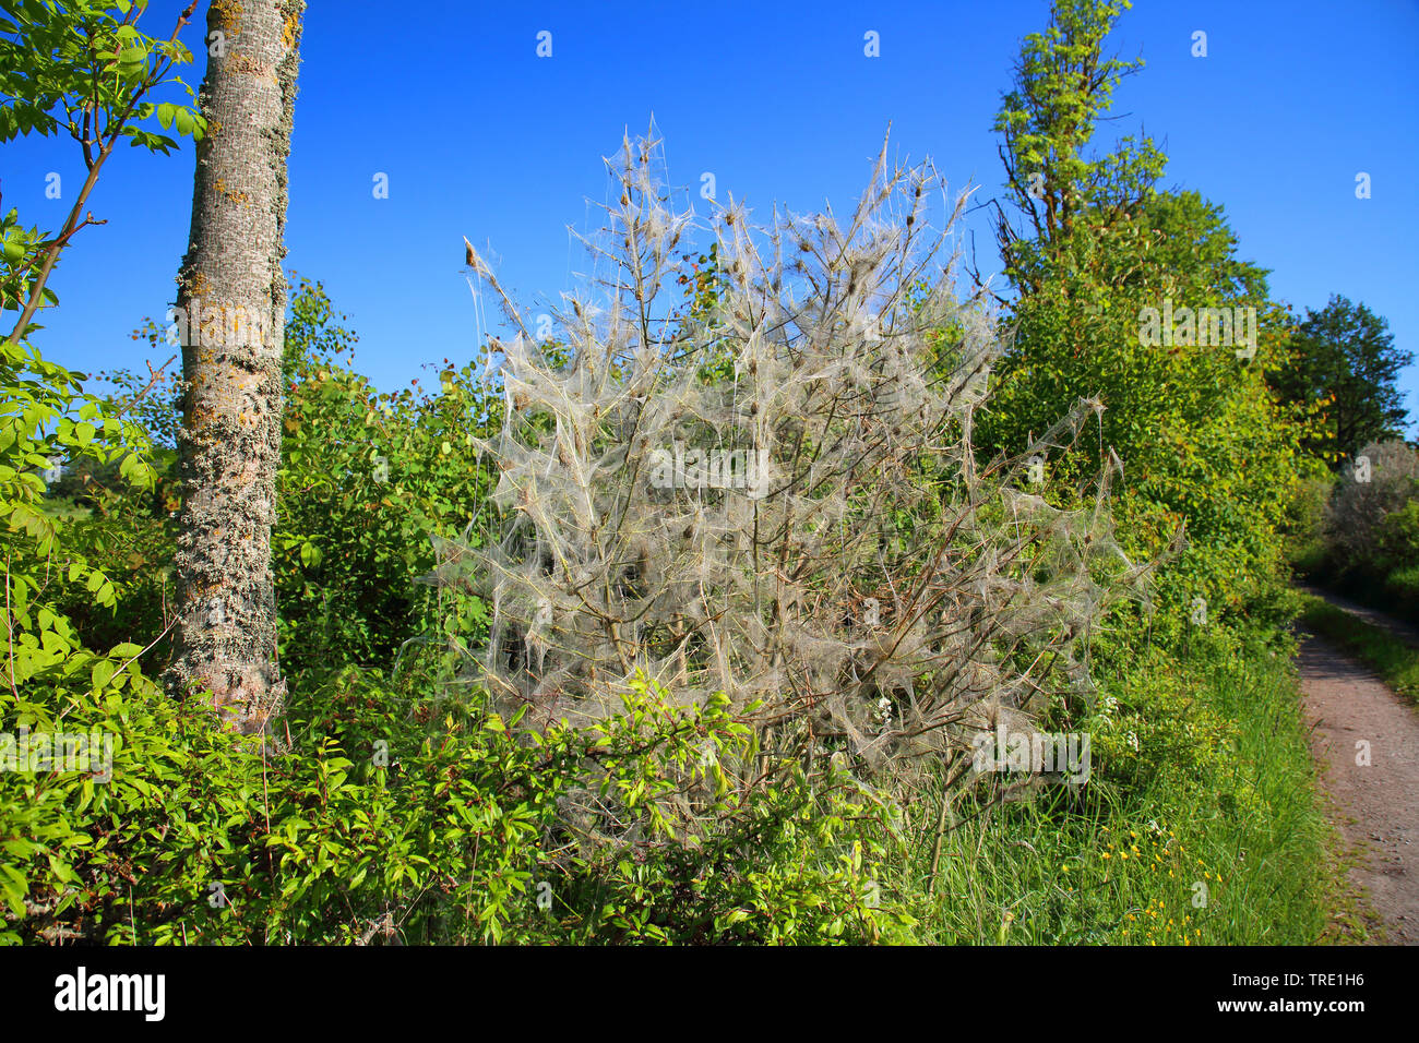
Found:
[[[648,150],[627,140],[613,170],[607,299],[556,311],[555,352],[502,345],[509,413],[480,443],[498,526],[441,543],[438,569],[491,605],[468,678],[543,727],[599,719],[644,671],[688,705],[761,705],[756,755],[868,771],[1086,697],[1081,636],[1141,570],[1112,541],[1107,470],[1076,509],[1029,487],[1087,403],[975,465],[999,345],[932,267],[928,172],[878,160],[850,223],[724,210],[708,301],[653,319],[691,216]],[[725,474],[731,453],[746,463]]]

